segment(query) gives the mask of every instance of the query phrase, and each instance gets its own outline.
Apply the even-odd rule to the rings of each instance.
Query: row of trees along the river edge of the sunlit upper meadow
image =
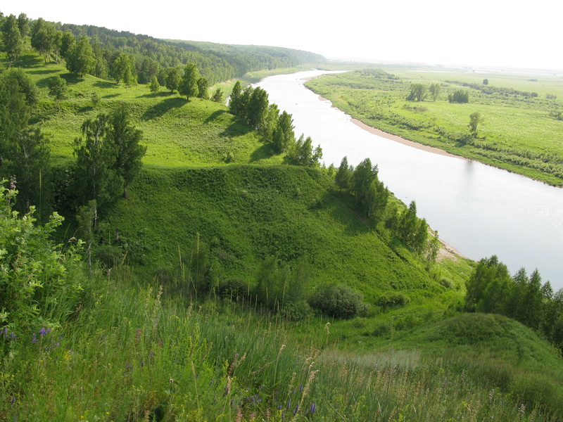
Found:
[[[296,140],[293,132],[293,117],[283,111],[279,113],[276,104],[268,101],[267,92],[260,87],[246,87],[244,91],[241,82],[234,84],[229,110],[240,117],[246,124],[258,130],[275,153],[286,153],[289,162],[306,167],[315,167],[322,159],[322,148],[313,148],[310,136],[302,134]]]

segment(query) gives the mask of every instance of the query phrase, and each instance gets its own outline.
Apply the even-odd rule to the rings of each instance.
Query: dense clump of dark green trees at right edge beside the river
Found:
[[[524,268],[514,276],[498,257],[483,258],[466,283],[465,309],[502,314],[543,333],[563,354],[563,290],[542,284],[536,269]]]

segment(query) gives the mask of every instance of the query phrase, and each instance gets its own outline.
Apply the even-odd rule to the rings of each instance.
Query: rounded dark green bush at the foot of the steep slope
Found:
[[[353,318],[367,309],[362,293],[342,284],[322,284],[311,296],[313,309],[334,318]]]

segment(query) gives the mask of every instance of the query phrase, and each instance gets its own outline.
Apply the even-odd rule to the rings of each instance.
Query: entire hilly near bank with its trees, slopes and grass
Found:
[[[563,294],[245,86],[324,58],[0,27],[0,421],[563,418]]]

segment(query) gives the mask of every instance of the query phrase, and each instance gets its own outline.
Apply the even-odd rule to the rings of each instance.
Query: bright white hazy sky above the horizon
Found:
[[[331,59],[563,70],[561,0],[4,0],[0,11]]]

